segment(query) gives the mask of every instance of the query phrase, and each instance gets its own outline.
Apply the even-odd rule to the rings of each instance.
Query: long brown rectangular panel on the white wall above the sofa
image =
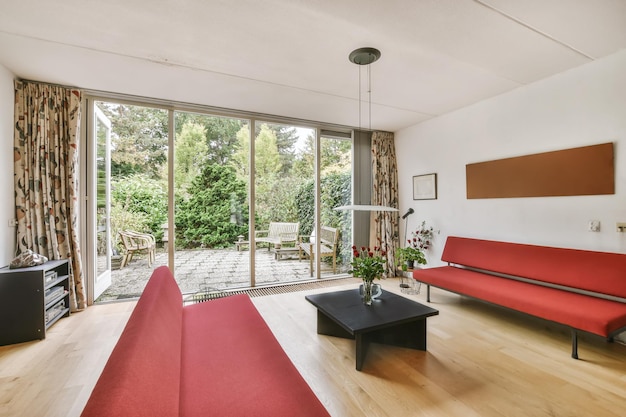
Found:
[[[613,143],[466,165],[467,198],[615,194]]]

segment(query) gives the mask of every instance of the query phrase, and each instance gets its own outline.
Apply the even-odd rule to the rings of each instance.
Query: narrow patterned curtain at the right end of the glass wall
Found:
[[[398,163],[393,133],[372,133],[372,204],[398,208]],[[396,248],[399,236],[396,211],[375,212],[376,241],[387,251],[387,276],[396,275]]]

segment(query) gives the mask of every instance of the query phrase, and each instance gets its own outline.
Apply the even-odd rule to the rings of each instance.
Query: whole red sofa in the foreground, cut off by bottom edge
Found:
[[[183,307],[155,269],[83,417],[328,416],[247,295]]]

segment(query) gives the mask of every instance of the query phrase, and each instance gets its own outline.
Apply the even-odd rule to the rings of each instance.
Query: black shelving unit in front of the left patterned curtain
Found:
[[[70,315],[69,262],[0,268],[0,345],[44,339],[46,330]]]

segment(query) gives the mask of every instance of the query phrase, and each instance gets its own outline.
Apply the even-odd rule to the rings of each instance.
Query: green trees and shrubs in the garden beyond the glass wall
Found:
[[[157,242],[167,222],[168,112],[99,102],[111,120],[112,236],[123,229],[152,233]],[[180,248],[232,246],[248,235],[250,126],[247,121],[175,113],[174,192],[176,242]],[[314,219],[314,140],[295,127],[257,123],[255,223],[300,222],[309,234]],[[299,141],[300,140],[300,141]],[[298,142],[299,141],[299,142]],[[298,146],[296,146],[298,144]],[[322,141],[321,223],[349,230],[350,141]],[[350,256],[341,236],[340,258]]]

